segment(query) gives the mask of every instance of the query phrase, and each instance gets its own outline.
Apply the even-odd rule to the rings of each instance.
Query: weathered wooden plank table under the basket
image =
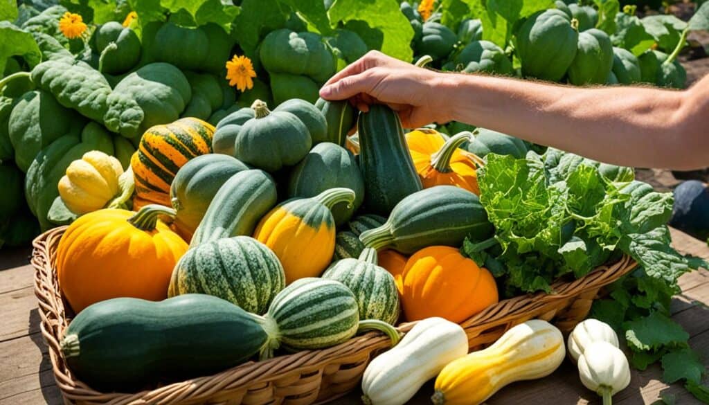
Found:
[[[699,240],[673,231],[674,245],[682,253],[709,259],[709,248]],[[62,404],[55,384],[47,346],[39,330],[40,317],[33,287],[34,270],[28,265],[29,249],[0,251],[0,405]],[[692,348],[709,364],[709,272],[700,270],[680,279],[682,293],[672,303],[674,320],[691,335]],[[617,405],[652,404],[660,395],[676,396],[676,404],[698,404],[679,384],[660,381],[657,365],[633,371],[630,387],[613,398]],[[412,404],[430,404],[431,384],[425,385]],[[489,405],[601,404],[598,396],[579,382],[565,361],[545,379],[511,384],[488,401]],[[361,404],[359,393],[333,404]]]

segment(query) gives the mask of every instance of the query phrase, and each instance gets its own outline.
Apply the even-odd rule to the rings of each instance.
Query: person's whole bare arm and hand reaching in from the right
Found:
[[[370,52],[330,79],[325,99],[382,102],[404,126],[461,121],[616,165],[709,165],[709,77],[691,89],[569,87],[442,73]]]

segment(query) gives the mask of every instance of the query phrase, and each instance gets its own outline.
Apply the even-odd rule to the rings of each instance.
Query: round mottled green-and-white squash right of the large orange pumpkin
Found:
[[[187,250],[172,271],[167,296],[209,294],[260,315],[284,287],[276,254],[254,238],[235,236]]]

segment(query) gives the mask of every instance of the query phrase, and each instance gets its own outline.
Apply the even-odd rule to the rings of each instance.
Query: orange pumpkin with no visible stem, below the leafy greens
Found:
[[[456,248],[431,246],[409,257],[401,304],[407,321],[440,316],[455,323],[498,301],[492,274]]]

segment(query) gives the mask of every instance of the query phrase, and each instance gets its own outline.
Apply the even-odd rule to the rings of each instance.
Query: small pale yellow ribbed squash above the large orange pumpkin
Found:
[[[116,157],[91,150],[69,164],[57,189],[69,211],[77,215],[122,208],[133,194],[133,173],[124,174]]]

